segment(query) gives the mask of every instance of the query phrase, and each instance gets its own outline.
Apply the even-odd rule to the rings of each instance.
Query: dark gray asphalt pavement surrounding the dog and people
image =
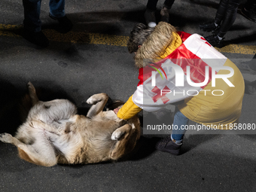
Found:
[[[142,0],[73,0],[66,1],[66,14],[74,32],[127,36],[144,22],[145,5]],[[181,31],[210,35],[198,23],[212,20],[217,7],[217,0],[176,0],[170,23]],[[0,13],[2,25],[23,23],[21,1],[2,0]],[[47,13],[43,1],[44,29],[54,24]],[[126,101],[136,90],[138,72],[126,47],[50,41],[41,49],[21,38],[19,27],[0,32],[0,133],[14,134],[19,126],[17,104],[28,81],[39,88],[42,100],[71,99],[81,113],[94,93]],[[254,49],[256,23],[238,14],[226,40]],[[246,50],[222,53],[238,66],[254,56]],[[242,74],[246,83],[256,79]],[[256,123],[255,106],[255,96],[245,93],[241,123]],[[118,162],[50,168],[20,160],[17,148],[1,142],[0,191],[256,191],[256,135],[186,135],[178,157],[155,151],[155,141],[142,136],[133,156]]]

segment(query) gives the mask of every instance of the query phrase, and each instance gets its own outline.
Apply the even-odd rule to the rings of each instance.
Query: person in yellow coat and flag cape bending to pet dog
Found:
[[[178,155],[186,131],[181,126],[188,120],[227,128],[238,122],[245,90],[242,74],[202,36],[176,32],[169,23],[155,28],[139,23],[127,46],[135,53],[139,84],[115,110],[117,117],[126,120],[142,109],[157,111],[184,101],[175,109],[173,126],[178,129],[157,143],[158,150]]]

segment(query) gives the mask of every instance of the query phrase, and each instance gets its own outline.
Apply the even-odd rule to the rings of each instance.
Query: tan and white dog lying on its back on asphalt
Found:
[[[139,139],[138,117],[124,121],[114,111],[102,111],[108,101],[105,93],[87,99],[93,106],[85,117],[69,100],[41,102],[30,82],[28,89],[32,108],[26,121],[15,137],[0,134],[0,141],[17,146],[23,160],[41,166],[117,160]]]

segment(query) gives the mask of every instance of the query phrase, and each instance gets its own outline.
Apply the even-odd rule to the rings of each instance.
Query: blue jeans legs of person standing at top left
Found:
[[[50,14],[53,17],[65,16],[65,0],[50,0]],[[41,31],[41,0],[23,0],[24,28],[32,32]]]

